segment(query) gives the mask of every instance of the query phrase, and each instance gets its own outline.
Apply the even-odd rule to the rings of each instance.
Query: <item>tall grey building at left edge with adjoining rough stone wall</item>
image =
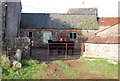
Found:
[[[23,53],[22,56],[29,56],[30,39],[18,37],[22,9],[21,2],[2,1],[0,6],[2,8],[0,9],[0,21],[2,22],[0,23],[2,54],[6,54],[11,58],[12,55],[15,55],[17,49],[21,49]]]

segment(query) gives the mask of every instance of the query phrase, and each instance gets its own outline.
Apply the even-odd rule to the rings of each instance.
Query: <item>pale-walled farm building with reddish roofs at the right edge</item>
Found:
[[[96,36],[86,41],[83,56],[118,59],[119,18],[101,18],[101,20],[99,30],[95,33]]]

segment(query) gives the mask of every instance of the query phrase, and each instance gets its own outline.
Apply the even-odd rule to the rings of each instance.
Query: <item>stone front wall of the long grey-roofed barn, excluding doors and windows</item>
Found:
[[[49,30],[52,32],[52,40],[53,41],[58,41],[59,40],[59,35],[60,34],[66,34],[67,38],[69,41],[74,41],[75,43],[83,43],[85,41],[87,41],[87,37],[82,36],[80,30],[76,31],[76,39],[70,39],[70,32],[69,30]],[[40,47],[40,46],[44,46],[46,45],[43,42],[43,30],[40,29],[31,29],[31,30],[25,30],[25,29],[21,29],[21,37],[28,37],[29,32],[32,32],[32,38],[30,38],[31,40],[34,41],[34,46],[35,47]]]

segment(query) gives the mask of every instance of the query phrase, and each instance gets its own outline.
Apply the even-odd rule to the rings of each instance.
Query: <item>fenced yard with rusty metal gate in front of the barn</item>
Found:
[[[39,61],[74,60],[79,59],[83,51],[83,43],[48,43],[47,46],[33,48],[31,57]]]

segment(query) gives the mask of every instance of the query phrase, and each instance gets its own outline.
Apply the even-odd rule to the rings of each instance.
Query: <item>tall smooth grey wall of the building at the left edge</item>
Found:
[[[5,30],[7,38],[17,37],[19,33],[21,8],[20,2],[7,2]]]

